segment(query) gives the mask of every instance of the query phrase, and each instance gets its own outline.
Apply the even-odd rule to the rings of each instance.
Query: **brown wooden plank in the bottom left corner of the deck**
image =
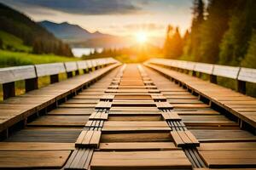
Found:
[[[61,168],[70,150],[0,151],[0,168]]]

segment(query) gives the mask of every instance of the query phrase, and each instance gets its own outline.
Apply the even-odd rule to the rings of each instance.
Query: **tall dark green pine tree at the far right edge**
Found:
[[[253,23],[256,23],[255,8],[255,0],[237,1],[231,12],[229,31],[224,34],[220,44],[219,64],[239,65],[247,54],[249,40],[253,34]]]

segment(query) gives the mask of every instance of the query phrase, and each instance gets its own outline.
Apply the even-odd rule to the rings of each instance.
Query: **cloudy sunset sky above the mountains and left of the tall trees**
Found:
[[[166,26],[189,29],[192,0],[0,0],[32,20],[68,22],[94,32],[164,37]]]

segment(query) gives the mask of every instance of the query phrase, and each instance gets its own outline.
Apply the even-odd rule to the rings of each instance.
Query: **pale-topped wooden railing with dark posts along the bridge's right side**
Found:
[[[251,68],[212,65],[176,59],[149,59],[146,63],[171,67],[177,71],[192,71],[193,76],[196,76],[196,72],[204,73],[210,76],[210,82],[212,83],[217,83],[217,77],[231,78],[237,81],[237,91],[241,94],[246,94],[246,82],[256,83],[256,69]]]

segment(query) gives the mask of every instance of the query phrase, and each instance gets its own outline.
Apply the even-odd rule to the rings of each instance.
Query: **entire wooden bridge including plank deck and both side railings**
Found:
[[[256,71],[171,59],[0,69],[0,169],[255,169],[256,99],[217,77],[245,93]]]

